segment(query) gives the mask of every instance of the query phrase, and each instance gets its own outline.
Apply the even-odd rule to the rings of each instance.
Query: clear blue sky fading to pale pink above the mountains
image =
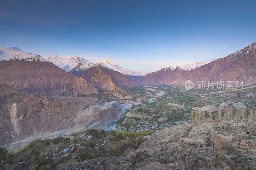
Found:
[[[225,57],[256,41],[256,1],[2,1],[0,46],[108,59],[145,73]]]

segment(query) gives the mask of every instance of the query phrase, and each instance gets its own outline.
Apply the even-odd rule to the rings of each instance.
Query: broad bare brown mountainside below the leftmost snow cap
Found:
[[[53,63],[38,60],[0,61],[0,83],[40,95],[98,92],[83,78],[69,74]]]

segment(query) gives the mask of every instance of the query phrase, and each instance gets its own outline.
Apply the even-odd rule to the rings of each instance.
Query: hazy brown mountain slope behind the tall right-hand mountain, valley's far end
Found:
[[[182,70],[180,68],[176,68],[175,70],[172,70],[170,68],[162,68],[161,70],[148,73],[145,76],[142,76],[138,78],[136,83],[138,84],[148,84],[148,85],[159,85],[159,84],[165,84],[166,81],[175,78],[181,74],[184,74],[188,72],[187,70]]]

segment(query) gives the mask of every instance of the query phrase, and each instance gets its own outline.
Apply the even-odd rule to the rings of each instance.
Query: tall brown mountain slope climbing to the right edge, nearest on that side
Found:
[[[188,71],[165,84],[184,85],[186,80],[198,81],[244,81],[244,85],[256,83],[256,42],[224,58],[219,58],[195,70]]]

